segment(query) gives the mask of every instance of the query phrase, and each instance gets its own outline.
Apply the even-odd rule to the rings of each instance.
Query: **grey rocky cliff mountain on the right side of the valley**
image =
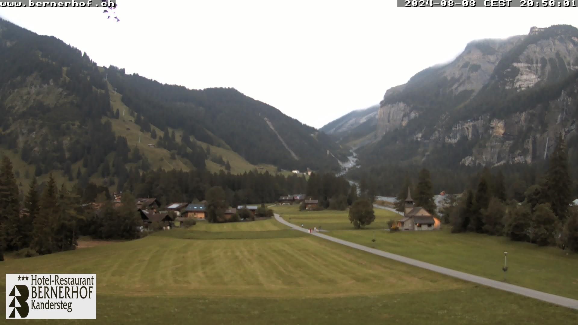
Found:
[[[387,91],[376,117],[381,140],[362,149],[361,159],[421,157],[462,165],[543,159],[558,132],[576,135],[577,85],[574,27],[471,42],[449,64]],[[420,149],[408,150],[416,140]]]

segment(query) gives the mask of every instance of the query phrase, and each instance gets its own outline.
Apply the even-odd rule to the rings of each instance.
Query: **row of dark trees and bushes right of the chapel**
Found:
[[[477,186],[444,209],[442,219],[453,232],[503,235],[578,252],[578,208],[571,205],[571,189],[568,153],[559,135],[547,172],[525,190],[523,201],[508,200],[502,175],[484,169]]]

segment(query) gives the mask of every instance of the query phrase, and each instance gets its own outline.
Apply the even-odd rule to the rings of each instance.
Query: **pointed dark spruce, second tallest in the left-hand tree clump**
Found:
[[[55,219],[60,213],[57,194],[56,182],[52,173],[50,173],[46,187],[40,197],[40,211],[34,219],[34,227],[32,229],[30,248],[36,250],[39,254],[50,254],[56,250],[54,225]]]

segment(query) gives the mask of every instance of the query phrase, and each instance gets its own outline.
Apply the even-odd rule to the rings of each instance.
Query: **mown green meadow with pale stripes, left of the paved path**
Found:
[[[0,263],[3,273],[97,274],[97,320],[24,323],[560,324],[578,317],[572,309],[360,252],[275,220],[199,222],[99,243]]]

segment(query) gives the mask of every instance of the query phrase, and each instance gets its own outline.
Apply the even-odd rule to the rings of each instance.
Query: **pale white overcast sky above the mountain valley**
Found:
[[[481,2],[481,1],[478,1]],[[118,0],[101,8],[0,8],[100,66],[187,88],[233,87],[320,128],[453,60],[467,43],[578,27],[576,8],[397,8],[393,0]],[[171,3],[159,5],[159,3]]]

